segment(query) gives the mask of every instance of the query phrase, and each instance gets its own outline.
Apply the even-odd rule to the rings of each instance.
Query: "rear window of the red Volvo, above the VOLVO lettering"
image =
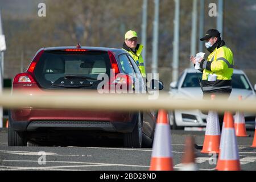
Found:
[[[97,88],[99,74],[110,77],[108,52],[45,51],[35,67],[35,78],[43,88]]]

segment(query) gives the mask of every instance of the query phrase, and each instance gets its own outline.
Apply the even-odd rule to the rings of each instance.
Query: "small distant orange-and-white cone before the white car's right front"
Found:
[[[242,100],[242,96],[239,96],[238,98],[240,101]],[[248,137],[245,129],[245,115],[240,111],[236,112],[236,116],[234,119],[234,128],[237,137]]]

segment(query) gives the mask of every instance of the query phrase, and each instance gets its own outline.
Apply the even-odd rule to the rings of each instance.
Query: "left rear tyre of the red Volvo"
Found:
[[[8,146],[27,146],[26,135],[14,131],[11,122],[8,123]]]

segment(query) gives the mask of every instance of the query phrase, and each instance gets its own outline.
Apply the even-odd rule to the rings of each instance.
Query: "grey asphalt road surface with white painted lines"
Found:
[[[256,148],[251,148],[254,131],[247,131],[251,137],[238,138],[241,168],[256,170]],[[185,137],[192,135],[202,145],[204,131],[171,131],[174,169],[180,169],[184,154]],[[199,170],[214,170],[214,156],[196,151]],[[97,141],[84,147],[8,147],[7,130],[0,129],[0,170],[120,170],[147,171],[150,167],[152,148],[123,148],[121,141]]]

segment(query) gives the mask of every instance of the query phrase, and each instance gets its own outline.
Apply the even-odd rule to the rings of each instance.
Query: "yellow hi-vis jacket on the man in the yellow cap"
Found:
[[[125,43],[123,43],[123,48],[122,49],[124,49],[124,50],[126,50],[127,52],[130,53],[130,55],[133,57],[133,59],[137,63],[137,65],[139,67],[139,70],[142,73],[142,76],[146,77],[146,71],[145,71],[145,67],[144,67],[144,60],[143,60],[142,55],[141,55],[143,46],[141,44],[137,44],[137,47],[135,48],[136,52],[133,52],[129,47],[126,46]]]

